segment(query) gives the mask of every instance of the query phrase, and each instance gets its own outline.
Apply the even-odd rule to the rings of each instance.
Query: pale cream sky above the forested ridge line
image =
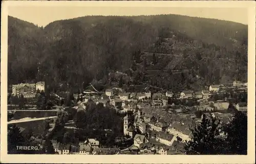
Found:
[[[187,7],[70,7],[70,6],[9,6],[8,15],[46,26],[62,19],[86,15],[159,15],[178,14],[192,17],[214,18],[248,24],[246,8],[187,8]]]

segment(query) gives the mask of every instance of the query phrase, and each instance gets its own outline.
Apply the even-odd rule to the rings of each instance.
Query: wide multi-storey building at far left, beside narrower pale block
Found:
[[[36,95],[36,85],[35,84],[17,84],[12,85],[12,95],[17,95],[20,97],[23,95],[25,98],[33,98]]]

